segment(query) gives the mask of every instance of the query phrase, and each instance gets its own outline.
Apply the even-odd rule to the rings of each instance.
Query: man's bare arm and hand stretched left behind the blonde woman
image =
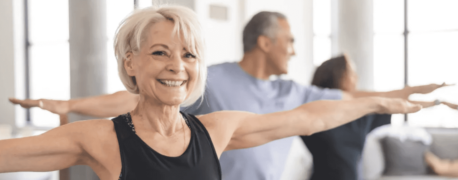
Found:
[[[138,95],[128,91],[119,91],[109,95],[91,96],[68,101],[49,99],[18,100],[15,98],[10,98],[10,101],[24,108],[40,107],[60,115],[75,112],[88,116],[113,117],[132,111],[136,107],[138,99]]]

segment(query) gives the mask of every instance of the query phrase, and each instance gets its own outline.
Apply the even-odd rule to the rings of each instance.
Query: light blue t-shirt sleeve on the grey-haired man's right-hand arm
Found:
[[[342,90],[339,89],[320,88],[311,85],[306,87],[304,103],[316,100],[341,100],[342,94]]]

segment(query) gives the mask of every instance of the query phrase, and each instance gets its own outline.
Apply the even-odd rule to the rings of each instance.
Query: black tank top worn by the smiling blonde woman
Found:
[[[121,154],[120,180],[221,180],[221,167],[207,129],[180,112],[191,129],[188,148],[178,157],[159,154],[135,133],[130,113],[112,119]]]

